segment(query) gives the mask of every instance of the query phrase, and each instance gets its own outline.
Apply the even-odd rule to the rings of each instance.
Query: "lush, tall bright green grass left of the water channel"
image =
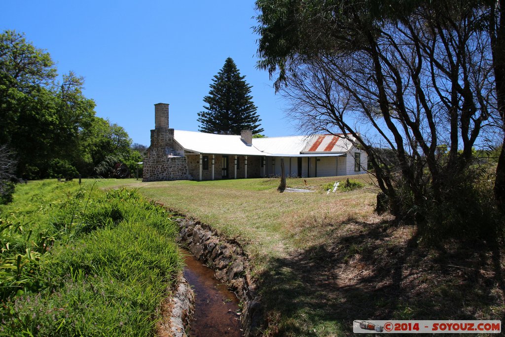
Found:
[[[182,267],[167,216],[93,183],[17,186],[0,207],[0,335],[153,335]]]

